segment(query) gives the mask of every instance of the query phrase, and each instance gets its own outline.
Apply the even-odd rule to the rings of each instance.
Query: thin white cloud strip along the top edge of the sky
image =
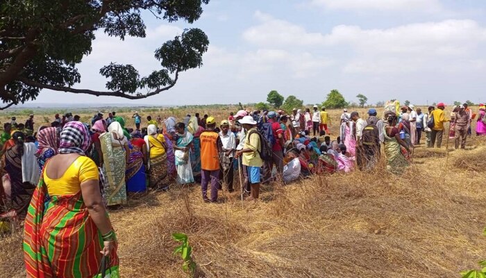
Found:
[[[414,10],[428,13],[442,10],[439,0],[312,0],[310,3],[332,10]]]

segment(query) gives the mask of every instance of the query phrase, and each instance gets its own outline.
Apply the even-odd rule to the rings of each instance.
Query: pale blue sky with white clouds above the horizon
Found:
[[[33,103],[237,104],[266,101],[271,90],[320,103],[330,90],[369,104],[486,101],[486,1],[211,0],[194,24],[144,15],[146,38],[96,33],[78,65],[75,88],[106,90],[99,69],[131,64],[160,69],[153,51],[184,28],[210,40],[203,66],[169,91],[141,100],[43,90]]]

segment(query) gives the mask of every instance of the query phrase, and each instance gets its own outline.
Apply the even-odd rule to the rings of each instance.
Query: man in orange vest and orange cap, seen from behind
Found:
[[[206,130],[201,133],[201,190],[204,202],[217,202],[219,182],[219,152],[222,152],[221,138],[215,131],[214,117],[206,118]],[[208,199],[208,183],[211,181],[211,199]]]

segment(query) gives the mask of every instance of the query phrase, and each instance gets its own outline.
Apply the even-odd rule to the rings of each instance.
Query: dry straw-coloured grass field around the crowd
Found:
[[[330,111],[334,122],[340,113]],[[172,255],[177,231],[189,236],[198,277],[459,277],[486,259],[486,140],[446,151],[445,138],[442,149],[417,147],[400,177],[380,165],[271,184],[256,203],[222,191],[221,204],[206,204],[198,186],[132,199],[110,211],[121,275],[187,277]],[[21,236],[0,239],[0,277],[25,276]]]

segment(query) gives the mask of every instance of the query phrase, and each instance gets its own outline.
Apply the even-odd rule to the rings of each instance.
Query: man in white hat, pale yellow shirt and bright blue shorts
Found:
[[[256,129],[256,121],[253,120],[253,117],[244,116],[238,122],[243,125],[247,136],[243,149],[236,152],[236,157],[243,156],[242,164],[246,166],[248,182],[251,186],[249,200],[256,200],[260,193],[260,168],[263,165],[262,158],[260,158],[262,150],[261,135]]]

